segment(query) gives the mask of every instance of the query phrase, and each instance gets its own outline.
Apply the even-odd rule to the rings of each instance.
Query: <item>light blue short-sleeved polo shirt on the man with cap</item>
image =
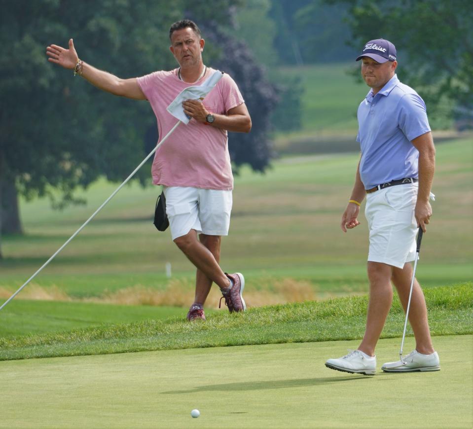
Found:
[[[358,107],[365,189],[403,178],[419,177],[419,152],[411,143],[430,131],[424,100],[395,74],[375,96],[371,89]]]

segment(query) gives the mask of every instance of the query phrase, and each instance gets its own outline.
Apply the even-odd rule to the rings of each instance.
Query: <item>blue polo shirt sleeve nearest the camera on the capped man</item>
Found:
[[[431,131],[424,100],[418,94],[405,94],[402,97],[398,124],[409,141]]]

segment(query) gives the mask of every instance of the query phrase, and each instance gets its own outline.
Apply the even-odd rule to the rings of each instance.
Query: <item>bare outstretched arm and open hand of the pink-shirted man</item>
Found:
[[[58,64],[65,69],[74,70],[79,57],[74,48],[73,39],[69,40],[69,49],[58,45],[50,45],[46,48],[48,61]],[[92,85],[110,94],[121,97],[133,98],[135,100],[146,100],[145,94],[138,85],[136,78],[120,79],[111,73],[98,70],[90,64],[82,62],[80,75]]]

